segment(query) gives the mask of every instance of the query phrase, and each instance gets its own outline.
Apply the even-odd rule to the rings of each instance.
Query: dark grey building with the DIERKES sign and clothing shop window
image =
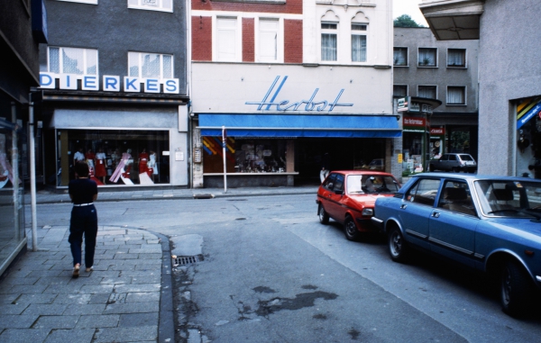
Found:
[[[101,187],[188,186],[186,5],[46,2],[40,47],[44,181],[86,161]]]

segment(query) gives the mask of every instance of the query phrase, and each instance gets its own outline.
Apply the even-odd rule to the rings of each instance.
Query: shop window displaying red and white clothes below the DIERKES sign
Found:
[[[57,130],[57,185],[84,162],[97,185],[170,183],[169,131]]]

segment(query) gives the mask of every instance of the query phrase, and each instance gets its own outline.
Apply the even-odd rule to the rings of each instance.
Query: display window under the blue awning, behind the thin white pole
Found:
[[[223,173],[224,155],[221,137],[203,137],[205,173]],[[227,173],[284,173],[287,140],[227,138]]]

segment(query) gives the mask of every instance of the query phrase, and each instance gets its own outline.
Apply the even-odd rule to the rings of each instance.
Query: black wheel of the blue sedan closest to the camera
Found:
[[[526,270],[515,261],[501,269],[501,309],[511,316],[527,313],[532,299],[532,284]]]

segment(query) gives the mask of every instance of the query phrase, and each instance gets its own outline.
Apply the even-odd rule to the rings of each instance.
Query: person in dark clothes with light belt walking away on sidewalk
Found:
[[[87,273],[94,265],[96,250],[97,212],[94,202],[97,199],[96,182],[88,179],[88,165],[75,164],[76,179],[69,181],[69,198],[73,203],[69,221],[69,244],[73,256],[73,277],[78,277],[81,267],[81,248],[85,236],[85,266]]]

